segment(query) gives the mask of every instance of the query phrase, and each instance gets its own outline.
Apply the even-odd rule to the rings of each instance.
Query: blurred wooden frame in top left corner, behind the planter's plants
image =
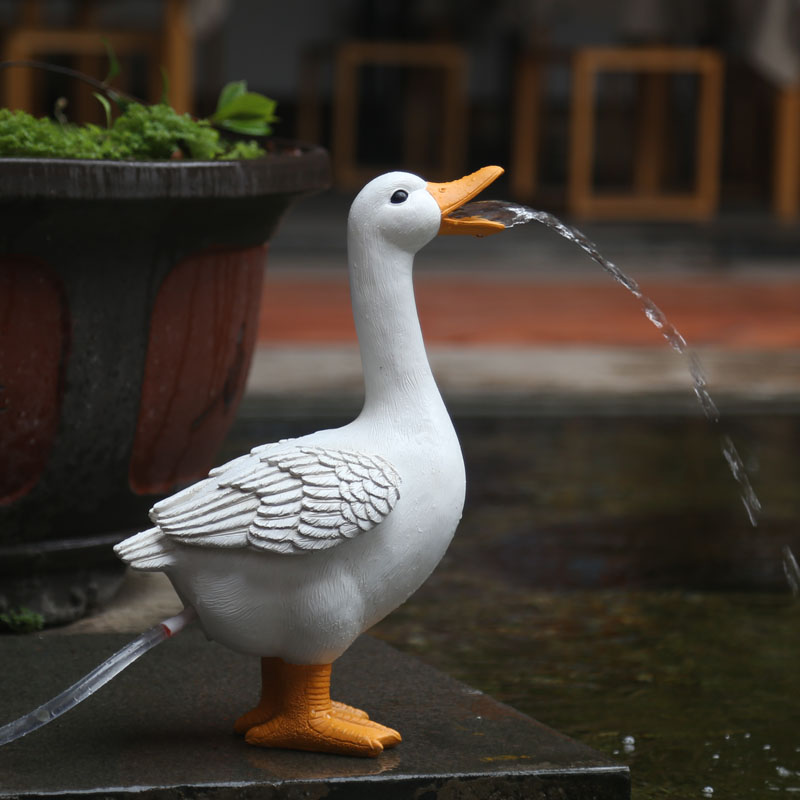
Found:
[[[187,17],[187,0],[163,0],[163,21],[158,32],[105,29],[96,24],[96,4],[80,4],[78,23],[70,27],[51,27],[42,22],[40,3],[23,3],[19,24],[13,26],[3,42],[3,61],[29,61],[55,54],[83,59],[102,57],[106,39],[119,56],[142,53],[149,63],[149,100],[161,98],[160,66],[169,80],[169,99],[179,113],[193,107],[193,42]],[[83,65],[79,63],[79,69]],[[85,69],[85,66],[83,66]],[[33,110],[34,79],[24,67],[3,70],[3,100],[9,108]]]

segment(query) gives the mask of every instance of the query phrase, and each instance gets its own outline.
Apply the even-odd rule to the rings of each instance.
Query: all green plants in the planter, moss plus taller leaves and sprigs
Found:
[[[231,141],[220,129],[247,136],[266,136],[276,121],[275,101],[247,90],[245,81],[229,83],[222,89],[217,108],[209,119],[178,114],[166,103],[146,105],[108,86],[118,72],[109,52],[111,67],[105,81],[96,81],[74,70],[73,77],[86,80],[103,106],[106,125],[75,125],[64,119],[63,107],[57,119],[36,117],[24,111],[0,109],[0,157],[76,158],[109,160],[167,160],[191,158],[259,158],[263,148],[253,140]],[[51,65],[25,62],[50,69]],[[13,66],[6,62],[2,66]],[[61,67],[53,68],[64,72]],[[114,119],[112,102],[120,109]]]

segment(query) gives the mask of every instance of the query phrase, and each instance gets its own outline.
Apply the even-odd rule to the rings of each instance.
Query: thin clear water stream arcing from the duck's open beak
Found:
[[[626,275],[613,261],[606,258],[597,249],[597,245],[577,230],[577,228],[566,225],[547,211],[537,211],[528,206],[507,203],[502,200],[478,200],[473,203],[467,203],[454,211],[451,216],[482,217],[483,219],[501,222],[507,228],[524,225],[528,222],[539,222],[550,230],[555,231],[560,236],[563,236],[568,241],[578,245],[578,247],[593,261],[599,264],[617,283],[624,286],[639,301],[647,319],[658,329],[667,344],[685,359],[689,374],[692,378],[692,388],[703,410],[703,414],[705,414],[709,422],[714,424],[719,423],[719,411],[709,394],[705,370],[697,358],[697,355],[689,349],[686,339],[683,338],[680,331],[667,319],[664,312],[642,292],[639,288],[639,284],[633,278]],[[753,490],[742,458],[727,433],[723,433],[721,436],[721,449],[731,474],[739,484],[739,493],[750,523],[755,527],[758,525],[761,502]],[[788,575],[786,557],[784,559],[784,568],[787,569]]]

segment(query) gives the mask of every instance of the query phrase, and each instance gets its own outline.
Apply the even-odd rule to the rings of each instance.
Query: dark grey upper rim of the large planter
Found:
[[[274,141],[277,152],[239,161],[0,158],[0,201],[260,197],[330,185],[326,150]]]

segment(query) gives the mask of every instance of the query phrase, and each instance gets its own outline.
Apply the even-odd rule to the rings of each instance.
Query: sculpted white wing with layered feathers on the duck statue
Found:
[[[257,448],[162,500],[150,516],[162,534],[183,544],[308,553],[380,524],[399,487],[397,471],[380,456]]]

